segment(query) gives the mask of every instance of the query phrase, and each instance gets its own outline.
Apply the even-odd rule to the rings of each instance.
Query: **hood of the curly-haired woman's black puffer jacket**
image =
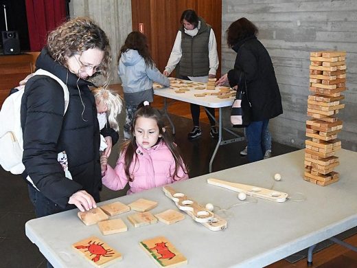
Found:
[[[36,60],[36,69],[44,69],[49,71],[51,74],[56,75],[60,80],[62,80],[69,87],[82,87],[84,85],[93,86],[93,83],[79,79],[76,74],[73,74],[66,67],[60,65],[60,63],[54,61],[54,59],[49,56],[47,48],[43,48],[41,54],[38,55]],[[68,78],[67,78],[68,76]]]

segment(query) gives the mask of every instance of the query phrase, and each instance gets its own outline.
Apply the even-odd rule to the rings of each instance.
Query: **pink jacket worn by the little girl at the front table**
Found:
[[[108,169],[102,177],[104,186],[111,190],[121,190],[128,183],[124,170],[124,156],[125,153],[120,155],[114,169],[107,165]],[[177,176],[172,177],[175,170],[175,160],[164,142],[159,142],[149,149],[141,148],[138,145],[136,157],[137,161],[133,161],[130,165],[130,174],[133,174],[134,180],[129,181],[130,189],[127,194],[188,179],[188,175],[181,167],[179,167]]]

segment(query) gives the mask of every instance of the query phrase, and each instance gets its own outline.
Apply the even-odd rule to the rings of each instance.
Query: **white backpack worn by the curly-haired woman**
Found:
[[[69,104],[69,91],[60,78],[49,71],[38,69],[34,76],[49,76],[61,85],[65,97],[65,113]],[[0,165],[4,170],[12,174],[21,174],[25,170],[23,166],[23,133],[21,129],[21,98],[24,87],[12,93],[3,102],[0,111]]]

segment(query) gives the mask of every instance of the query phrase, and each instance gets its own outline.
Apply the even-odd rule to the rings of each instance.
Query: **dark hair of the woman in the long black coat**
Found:
[[[227,45],[233,47],[242,39],[258,34],[258,28],[249,19],[240,18],[229,25],[227,29]]]

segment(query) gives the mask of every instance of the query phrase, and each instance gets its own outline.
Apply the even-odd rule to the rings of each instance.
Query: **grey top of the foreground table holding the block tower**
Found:
[[[135,228],[126,218],[133,212],[126,212],[112,218],[122,218],[128,232],[103,236],[97,225],[85,226],[78,210],[71,210],[28,221],[26,235],[55,267],[91,267],[71,248],[89,236],[122,253],[123,259],[110,267],[157,267],[139,247],[139,241],[155,236],[166,236],[187,258],[187,267],[263,267],[357,225],[357,153],[339,150],[336,155],[340,181],[325,187],[303,180],[303,150],[172,184],[200,204],[213,203],[215,212],[222,209],[218,214],[228,221],[223,231],[208,230],[187,214],[173,225],[159,222]],[[281,181],[274,181],[275,173],[281,174]],[[287,192],[290,199],[240,201],[238,192],[209,185],[208,178]],[[153,214],[176,209],[161,188],[102,203],[128,204],[139,198],[159,202]]]

